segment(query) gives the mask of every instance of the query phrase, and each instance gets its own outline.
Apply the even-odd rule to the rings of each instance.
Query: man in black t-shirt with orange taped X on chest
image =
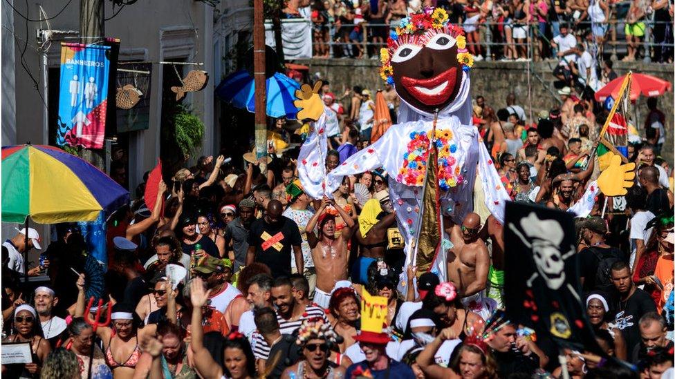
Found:
[[[303,261],[300,244],[302,238],[297,224],[281,213],[284,206],[279,200],[271,200],[266,214],[251,224],[248,233],[246,265],[253,262],[266,264],[272,277],[290,276],[290,254],[295,254],[295,268],[302,273]]]

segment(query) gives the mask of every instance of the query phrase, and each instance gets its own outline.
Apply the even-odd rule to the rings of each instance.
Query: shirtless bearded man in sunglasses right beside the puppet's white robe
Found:
[[[486,288],[490,255],[485,242],[479,238],[481,216],[468,213],[461,225],[447,220],[445,233],[450,235],[452,248],[447,252],[447,276],[457,286],[465,306],[486,318],[482,312],[481,291]]]

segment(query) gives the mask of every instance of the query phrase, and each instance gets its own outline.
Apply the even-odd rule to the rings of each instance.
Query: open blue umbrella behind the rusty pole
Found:
[[[300,89],[297,81],[284,74],[275,72],[266,80],[267,115],[295,119],[297,108],[293,105],[295,90]],[[234,72],[221,81],[216,95],[237,108],[255,113],[255,86],[253,77],[246,70]]]

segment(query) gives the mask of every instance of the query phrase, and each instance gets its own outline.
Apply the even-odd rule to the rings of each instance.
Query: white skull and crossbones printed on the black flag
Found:
[[[575,253],[573,245],[566,253],[560,251],[560,243],[564,237],[560,224],[555,220],[541,220],[532,212],[520,221],[520,229],[527,237],[514,224],[510,223],[508,227],[533,251],[537,272],[527,281],[528,286],[531,287],[532,282],[540,275],[549,289],[560,289],[565,282],[565,260]],[[567,287],[576,298],[579,297],[570,284]]]

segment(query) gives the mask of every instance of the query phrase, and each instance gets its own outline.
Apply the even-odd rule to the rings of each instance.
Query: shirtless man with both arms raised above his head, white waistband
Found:
[[[335,215],[326,213],[326,206],[331,205],[338,211],[344,228],[340,237],[335,237]],[[319,237],[314,235],[314,228],[318,224]],[[347,278],[349,249],[347,244],[351,240],[355,222],[349,217],[342,206],[327,197],[321,201],[319,210],[309,220],[306,227],[307,241],[312,249],[312,259],[317,273],[317,283],[314,293],[314,302],[319,307],[327,309],[331,301],[331,291],[335,283]]]

